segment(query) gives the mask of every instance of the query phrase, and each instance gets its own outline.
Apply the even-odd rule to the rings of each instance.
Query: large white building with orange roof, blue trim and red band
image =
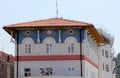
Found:
[[[16,45],[15,78],[105,78],[100,53],[107,45],[92,24],[50,18],[3,28]]]

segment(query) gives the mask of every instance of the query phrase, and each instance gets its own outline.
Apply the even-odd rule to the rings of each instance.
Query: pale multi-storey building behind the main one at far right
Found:
[[[115,62],[113,61],[114,49],[112,48],[114,38],[102,29],[98,29],[98,32],[105,42],[104,45],[100,47],[101,52],[99,52],[99,68],[102,68],[99,69],[100,78],[115,78],[115,74],[112,74],[115,68]]]

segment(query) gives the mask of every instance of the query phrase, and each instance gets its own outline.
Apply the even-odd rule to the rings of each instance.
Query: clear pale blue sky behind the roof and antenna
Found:
[[[120,0],[58,0],[59,17],[88,22],[115,38],[120,52]],[[15,46],[2,27],[56,17],[56,0],[0,0],[0,50],[14,54]]]

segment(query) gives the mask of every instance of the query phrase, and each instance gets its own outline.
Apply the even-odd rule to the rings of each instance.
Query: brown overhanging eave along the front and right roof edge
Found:
[[[9,34],[11,34],[11,31],[18,30],[20,28],[24,29],[38,29],[38,28],[47,28],[47,27],[56,27],[56,28],[63,28],[63,27],[85,27],[87,31],[93,36],[93,38],[96,40],[98,44],[104,44],[104,40],[100,36],[100,34],[97,32],[95,27],[92,24],[89,25],[52,25],[52,26],[4,26],[3,29],[6,30]]]

